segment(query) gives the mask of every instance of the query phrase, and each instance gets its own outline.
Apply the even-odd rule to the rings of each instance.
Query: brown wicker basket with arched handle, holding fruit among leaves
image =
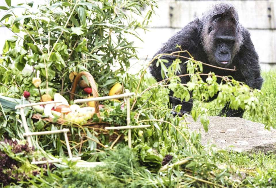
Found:
[[[96,86],[93,76],[89,72],[83,71],[83,72],[78,73],[78,75],[76,76],[76,78],[73,82],[72,90],[71,90],[72,94],[70,94],[71,100],[74,99],[74,92],[76,90],[76,86],[78,85],[78,82],[83,75],[85,75],[87,77],[87,80],[88,80],[89,84],[91,85],[93,97],[99,96],[98,91],[97,91],[97,86]],[[99,117],[99,102],[98,101],[95,101],[95,113],[97,113],[97,115]],[[53,120],[51,117],[41,118],[41,114],[34,114],[32,116],[32,119],[34,121],[38,121],[38,120],[42,119],[42,120],[48,121],[48,122],[51,122]],[[60,124],[60,125],[65,125],[65,124],[68,124],[68,121],[63,120],[63,119],[58,119],[55,123]],[[123,136],[120,137],[120,135],[118,134],[119,131],[114,130],[113,134],[109,135],[110,131],[105,130],[105,127],[110,127],[110,124],[111,123],[108,123],[108,122],[101,122],[101,121],[93,122],[92,120],[89,120],[89,121],[87,121],[86,124],[82,125],[82,127],[94,129],[94,131],[96,131],[97,133],[104,134],[105,136],[108,137],[109,142],[113,142],[115,140],[116,140],[116,142],[121,141]],[[85,135],[82,135],[82,136],[85,136]]]

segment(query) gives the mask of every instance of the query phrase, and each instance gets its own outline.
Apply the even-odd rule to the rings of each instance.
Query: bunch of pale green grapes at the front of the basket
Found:
[[[80,125],[84,125],[91,118],[92,118],[91,111],[87,111],[87,112],[69,112],[68,114],[65,115],[64,119],[73,121]]]

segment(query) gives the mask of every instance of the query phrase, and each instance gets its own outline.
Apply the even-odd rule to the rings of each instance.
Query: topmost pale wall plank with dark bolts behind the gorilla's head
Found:
[[[276,1],[250,0],[229,1],[239,13],[239,23],[246,28],[275,29]],[[217,1],[170,1],[170,26],[183,28],[196,17],[201,17],[202,12]]]

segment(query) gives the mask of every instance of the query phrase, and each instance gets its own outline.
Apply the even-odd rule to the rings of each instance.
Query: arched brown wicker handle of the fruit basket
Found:
[[[71,100],[74,99],[74,93],[76,91],[78,81],[80,80],[80,78],[83,75],[85,75],[87,77],[87,80],[88,80],[89,84],[91,85],[93,97],[99,97],[99,94],[98,94],[98,91],[97,91],[97,86],[96,86],[96,83],[95,83],[95,80],[94,80],[93,76],[87,71],[82,71],[82,72],[78,73],[78,75],[76,76],[76,78],[73,82],[72,90],[71,90],[72,93],[70,94],[70,99]],[[98,112],[99,112],[99,102],[95,101],[95,113],[98,113]]]

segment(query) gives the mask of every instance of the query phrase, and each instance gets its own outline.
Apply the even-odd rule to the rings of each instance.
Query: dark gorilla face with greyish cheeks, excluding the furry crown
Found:
[[[202,44],[210,63],[229,67],[242,41],[237,21],[229,15],[215,15],[207,26]]]

